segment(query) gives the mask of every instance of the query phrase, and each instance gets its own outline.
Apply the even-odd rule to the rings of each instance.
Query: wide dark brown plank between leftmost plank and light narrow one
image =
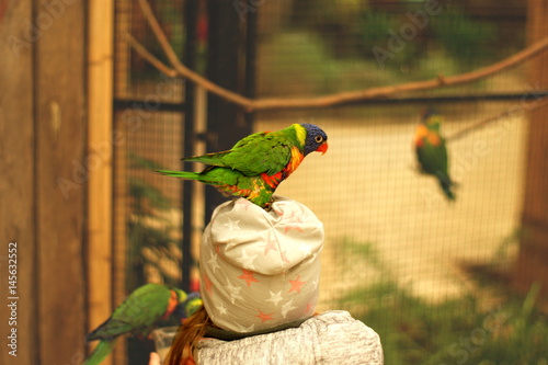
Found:
[[[84,356],[85,4],[35,3],[36,254],[39,364]]]

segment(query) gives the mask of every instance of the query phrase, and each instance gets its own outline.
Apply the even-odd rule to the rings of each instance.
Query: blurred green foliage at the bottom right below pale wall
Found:
[[[430,303],[391,278],[372,243],[343,240],[341,247],[353,262],[380,273],[344,295],[339,307],[379,334],[386,364],[548,364],[548,321],[535,307],[539,285],[525,298],[504,293],[490,306],[481,290]]]

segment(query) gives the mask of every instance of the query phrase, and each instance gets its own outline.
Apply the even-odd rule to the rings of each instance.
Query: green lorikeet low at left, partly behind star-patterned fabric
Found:
[[[160,284],[145,284],[132,292],[103,324],[87,335],[88,341],[100,340],[85,360],[85,365],[100,364],[114,347],[116,339],[125,333],[147,337],[159,321],[175,316],[190,316],[197,308],[187,308],[195,295]],[[191,301],[194,303],[194,301]],[[181,320],[184,317],[179,317]]]

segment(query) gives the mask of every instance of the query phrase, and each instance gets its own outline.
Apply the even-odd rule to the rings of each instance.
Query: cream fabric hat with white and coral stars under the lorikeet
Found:
[[[322,223],[298,202],[275,196],[270,210],[244,198],[219,205],[199,254],[207,313],[239,333],[309,318],[322,247]]]

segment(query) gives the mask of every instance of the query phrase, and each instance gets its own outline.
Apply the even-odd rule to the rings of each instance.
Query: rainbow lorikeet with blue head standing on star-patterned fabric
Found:
[[[255,133],[231,149],[183,158],[208,164],[202,172],[167,171],[165,175],[197,180],[221,193],[242,196],[267,208],[277,185],[287,179],[310,152],[326,153],[328,136],[313,124],[294,124],[277,132]]]

